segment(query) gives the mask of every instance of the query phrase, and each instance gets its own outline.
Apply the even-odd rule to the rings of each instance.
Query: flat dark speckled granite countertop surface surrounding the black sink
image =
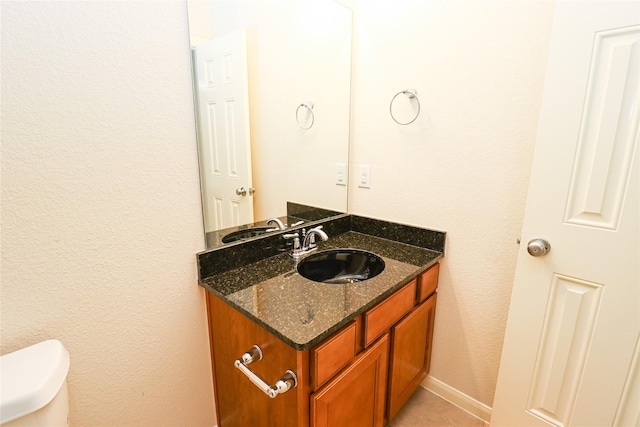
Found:
[[[442,252],[354,231],[319,242],[318,252],[352,248],[383,258],[378,276],[324,284],[300,276],[289,253],[200,279],[200,285],[296,350],[306,350],[435,264]],[[314,252],[317,253],[317,252]]]

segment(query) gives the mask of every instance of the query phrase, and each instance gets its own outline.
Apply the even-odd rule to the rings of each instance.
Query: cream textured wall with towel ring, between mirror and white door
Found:
[[[350,211],[448,232],[431,375],[489,406],[552,13],[551,2],[355,7],[352,161],[372,172]],[[407,88],[422,109],[400,126],[389,101]]]

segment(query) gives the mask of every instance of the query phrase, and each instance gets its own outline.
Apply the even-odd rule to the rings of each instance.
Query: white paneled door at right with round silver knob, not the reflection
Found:
[[[640,426],[639,118],[640,2],[558,2],[492,426]]]

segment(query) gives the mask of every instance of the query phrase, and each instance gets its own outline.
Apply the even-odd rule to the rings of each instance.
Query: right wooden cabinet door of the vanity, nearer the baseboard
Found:
[[[391,329],[389,421],[429,372],[436,294]]]

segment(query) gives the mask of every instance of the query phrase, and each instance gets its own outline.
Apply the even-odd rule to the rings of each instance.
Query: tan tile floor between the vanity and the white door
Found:
[[[418,387],[388,427],[485,427],[484,421]]]

